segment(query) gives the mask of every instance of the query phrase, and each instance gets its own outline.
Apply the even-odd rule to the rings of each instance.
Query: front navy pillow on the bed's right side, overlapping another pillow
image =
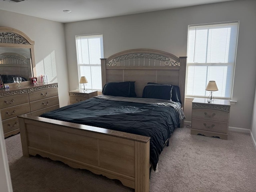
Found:
[[[147,84],[142,92],[143,98],[171,100],[172,85]]]

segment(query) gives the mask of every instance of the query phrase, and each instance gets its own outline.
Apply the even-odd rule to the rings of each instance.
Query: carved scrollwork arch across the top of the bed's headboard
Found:
[[[116,57],[109,62],[106,63],[106,66],[117,66],[118,62],[130,60],[130,59],[138,59],[140,66],[140,59],[153,59],[164,62],[165,66],[180,66],[180,62],[172,61],[170,58],[166,56],[162,56],[159,54],[148,54],[148,53],[133,53],[133,54],[125,54],[119,57]],[[155,63],[155,62],[154,62]],[[160,62],[161,63],[161,62]]]

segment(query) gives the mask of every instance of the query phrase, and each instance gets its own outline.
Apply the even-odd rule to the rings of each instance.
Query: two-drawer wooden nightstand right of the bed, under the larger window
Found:
[[[192,101],[192,122],[190,134],[228,139],[230,101],[194,98]]]

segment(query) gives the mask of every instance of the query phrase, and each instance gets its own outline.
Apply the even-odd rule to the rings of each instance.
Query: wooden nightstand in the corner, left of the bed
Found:
[[[83,89],[77,89],[77,90],[69,91],[68,94],[69,94],[69,102],[70,104],[73,104],[73,103],[84,101],[94,96],[97,96],[98,91],[95,91],[95,90],[85,91]]]

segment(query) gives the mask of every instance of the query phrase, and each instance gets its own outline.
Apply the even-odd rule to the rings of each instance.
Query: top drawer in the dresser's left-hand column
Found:
[[[28,103],[28,94],[12,94],[0,98],[0,109]]]

